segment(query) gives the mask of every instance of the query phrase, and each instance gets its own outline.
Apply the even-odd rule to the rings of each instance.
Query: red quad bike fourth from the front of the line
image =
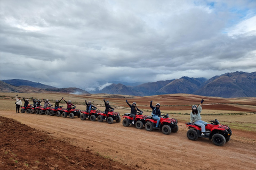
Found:
[[[114,120],[119,123],[121,122],[121,117],[119,116],[120,114],[118,112],[114,112],[114,109],[111,109],[110,112],[107,114],[105,112],[98,113],[99,116],[97,118],[98,122],[103,122],[105,119],[109,124],[112,124]]]

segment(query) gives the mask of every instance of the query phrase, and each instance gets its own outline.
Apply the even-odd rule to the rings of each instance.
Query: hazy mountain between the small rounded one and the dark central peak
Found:
[[[133,87],[132,89],[136,91],[140,91],[142,93],[142,96],[152,96],[152,95],[156,95],[156,91],[163,88],[167,84],[171,83],[173,80],[143,83],[143,84],[140,84],[139,86]]]

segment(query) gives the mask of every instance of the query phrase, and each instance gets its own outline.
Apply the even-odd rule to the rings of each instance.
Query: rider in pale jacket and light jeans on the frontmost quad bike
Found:
[[[202,112],[202,104],[204,102],[204,99],[201,100],[201,104],[197,107],[196,105],[192,106],[192,112],[190,113],[190,123],[195,123],[198,126],[201,126],[201,132],[202,136],[204,136],[205,132],[205,124],[208,124],[207,122],[202,121],[202,117],[200,113]]]

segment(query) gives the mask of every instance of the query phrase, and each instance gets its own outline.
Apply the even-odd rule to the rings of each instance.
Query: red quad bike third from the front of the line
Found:
[[[130,113],[125,113],[123,115],[123,126],[127,127],[130,126],[130,124],[135,125],[135,127],[137,129],[142,129],[143,125],[145,125],[146,123],[146,118],[148,117],[147,115],[142,115],[143,112],[137,112],[137,114],[135,114],[135,120],[134,120],[134,124],[132,124],[133,121],[133,117],[131,117]]]

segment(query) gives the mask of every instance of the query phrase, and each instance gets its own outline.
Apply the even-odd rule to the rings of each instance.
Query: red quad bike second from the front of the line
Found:
[[[164,116],[164,117],[162,117]],[[175,118],[169,118],[169,115],[161,115],[161,119],[158,124],[158,128],[156,128],[157,120],[153,118],[153,116],[148,116],[146,118],[145,129],[147,131],[153,131],[153,129],[159,129],[164,134],[170,134],[171,132],[177,132],[179,130],[178,121]]]

